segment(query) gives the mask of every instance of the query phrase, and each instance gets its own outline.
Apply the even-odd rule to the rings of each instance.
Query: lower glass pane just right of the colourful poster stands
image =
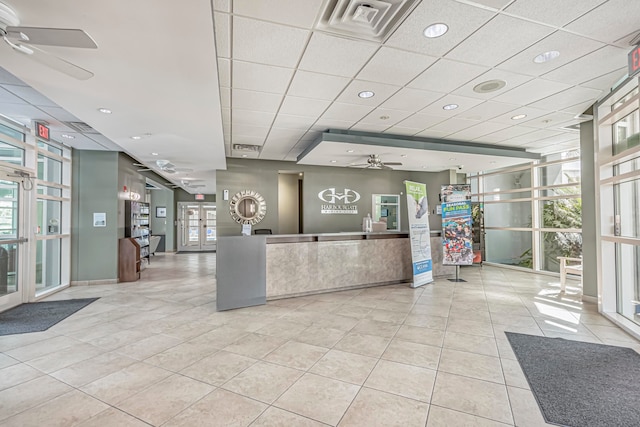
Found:
[[[486,211],[487,205],[485,205]],[[485,220],[489,215],[485,214]],[[533,268],[530,231],[487,230],[486,258],[489,262]]]

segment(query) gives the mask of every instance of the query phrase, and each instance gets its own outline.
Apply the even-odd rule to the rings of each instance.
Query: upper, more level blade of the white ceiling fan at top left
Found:
[[[7,27],[7,37],[21,43],[38,44],[42,46],[78,47],[83,49],[97,49],[98,45],[91,36],[83,30],[72,28],[44,28],[44,27]]]

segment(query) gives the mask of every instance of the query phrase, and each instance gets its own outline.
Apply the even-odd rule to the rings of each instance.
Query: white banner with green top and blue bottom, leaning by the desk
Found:
[[[413,285],[433,282],[431,261],[431,233],[429,231],[429,205],[426,184],[405,181],[407,212],[409,213],[409,239],[413,264]]]

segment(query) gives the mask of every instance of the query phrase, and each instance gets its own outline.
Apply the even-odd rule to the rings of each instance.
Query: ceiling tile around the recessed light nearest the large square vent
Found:
[[[494,15],[494,12],[450,0],[423,1],[386,44],[426,55],[442,56]],[[449,31],[442,37],[425,38],[422,35],[424,29],[438,22],[446,23]]]

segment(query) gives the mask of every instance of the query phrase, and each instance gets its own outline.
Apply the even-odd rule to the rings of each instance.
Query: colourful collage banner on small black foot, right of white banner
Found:
[[[442,250],[443,265],[473,264],[473,235],[471,219],[471,186],[449,184],[442,186]],[[458,278],[456,268],[455,282]]]

